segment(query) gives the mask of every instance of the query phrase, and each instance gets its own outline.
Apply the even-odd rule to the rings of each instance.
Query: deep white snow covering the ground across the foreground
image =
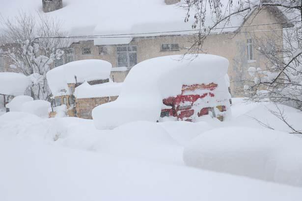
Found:
[[[234,127],[275,132],[251,117],[276,132],[289,131],[268,112],[273,104],[233,102],[232,119],[222,123],[208,118],[199,123],[133,122],[113,130],[97,130],[92,121],[78,118],[3,114],[0,201],[301,201],[299,185],[185,165],[184,147],[203,133]],[[288,121],[302,129],[302,113],[282,107]]]

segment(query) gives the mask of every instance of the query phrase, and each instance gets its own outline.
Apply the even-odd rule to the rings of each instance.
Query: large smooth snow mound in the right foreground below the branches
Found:
[[[249,127],[223,127],[194,138],[184,150],[189,166],[302,186],[302,138]]]

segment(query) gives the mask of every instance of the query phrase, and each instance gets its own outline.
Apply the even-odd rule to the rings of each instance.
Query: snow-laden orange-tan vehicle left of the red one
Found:
[[[119,95],[118,89],[115,89],[117,86],[113,85],[120,84],[112,83],[110,70],[109,62],[88,59],[70,62],[49,71],[46,76],[53,94],[49,117],[55,117],[63,109],[69,117],[91,119],[94,107],[113,101]],[[109,91],[105,93],[104,90]],[[62,105],[66,105],[66,108],[62,108]]]

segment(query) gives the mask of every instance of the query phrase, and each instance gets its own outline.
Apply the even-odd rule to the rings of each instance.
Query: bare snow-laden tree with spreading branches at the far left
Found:
[[[1,49],[10,67],[30,76],[32,97],[48,100],[51,92],[46,73],[64,53],[61,48],[66,41],[56,38],[64,36],[57,21],[41,13],[36,16],[19,13],[13,19],[2,18]]]

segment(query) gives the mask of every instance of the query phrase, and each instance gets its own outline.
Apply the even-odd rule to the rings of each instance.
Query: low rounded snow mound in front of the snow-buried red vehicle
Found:
[[[174,162],[181,159],[175,157],[182,148],[157,123],[131,122],[119,126],[102,136],[95,144],[95,149],[124,157],[148,158],[151,160]]]

